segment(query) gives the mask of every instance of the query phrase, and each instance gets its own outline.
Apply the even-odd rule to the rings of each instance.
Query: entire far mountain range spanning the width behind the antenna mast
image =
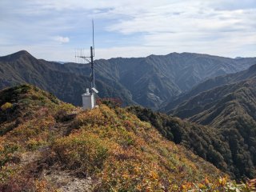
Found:
[[[222,58],[207,54],[150,55],[146,58],[111,58],[95,61],[99,96],[121,98],[125,105],[158,109],[170,98],[207,78],[235,73],[256,63],[256,58]],[[0,87],[28,82],[65,102],[81,105],[90,66],[38,60],[26,51],[0,58]]]

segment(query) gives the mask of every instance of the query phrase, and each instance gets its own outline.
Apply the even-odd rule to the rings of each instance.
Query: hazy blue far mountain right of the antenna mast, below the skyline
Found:
[[[246,70],[256,58],[222,58],[207,54],[172,53],[146,58],[98,60],[98,73],[120,82],[142,106],[157,109],[207,78]]]

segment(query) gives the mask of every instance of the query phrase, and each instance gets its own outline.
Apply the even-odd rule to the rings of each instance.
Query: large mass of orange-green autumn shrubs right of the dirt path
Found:
[[[98,178],[95,191],[165,191],[176,186],[180,191],[185,181],[198,183],[206,175],[212,181],[220,175],[121,108],[101,105],[83,111],[74,124],[76,130],[58,138],[51,149],[66,169]],[[209,172],[202,174],[206,166]]]

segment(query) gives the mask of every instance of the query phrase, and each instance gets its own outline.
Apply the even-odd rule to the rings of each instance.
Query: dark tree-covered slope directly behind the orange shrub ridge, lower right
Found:
[[[241,121],[247,124],[236,127],[236,122],[230,119],[230,126],[202,126],[140,106],[130,106],[127,110],[142,121],[150,122],[165,138],[192,150],[233,178],[256,176],[255,124]]]

